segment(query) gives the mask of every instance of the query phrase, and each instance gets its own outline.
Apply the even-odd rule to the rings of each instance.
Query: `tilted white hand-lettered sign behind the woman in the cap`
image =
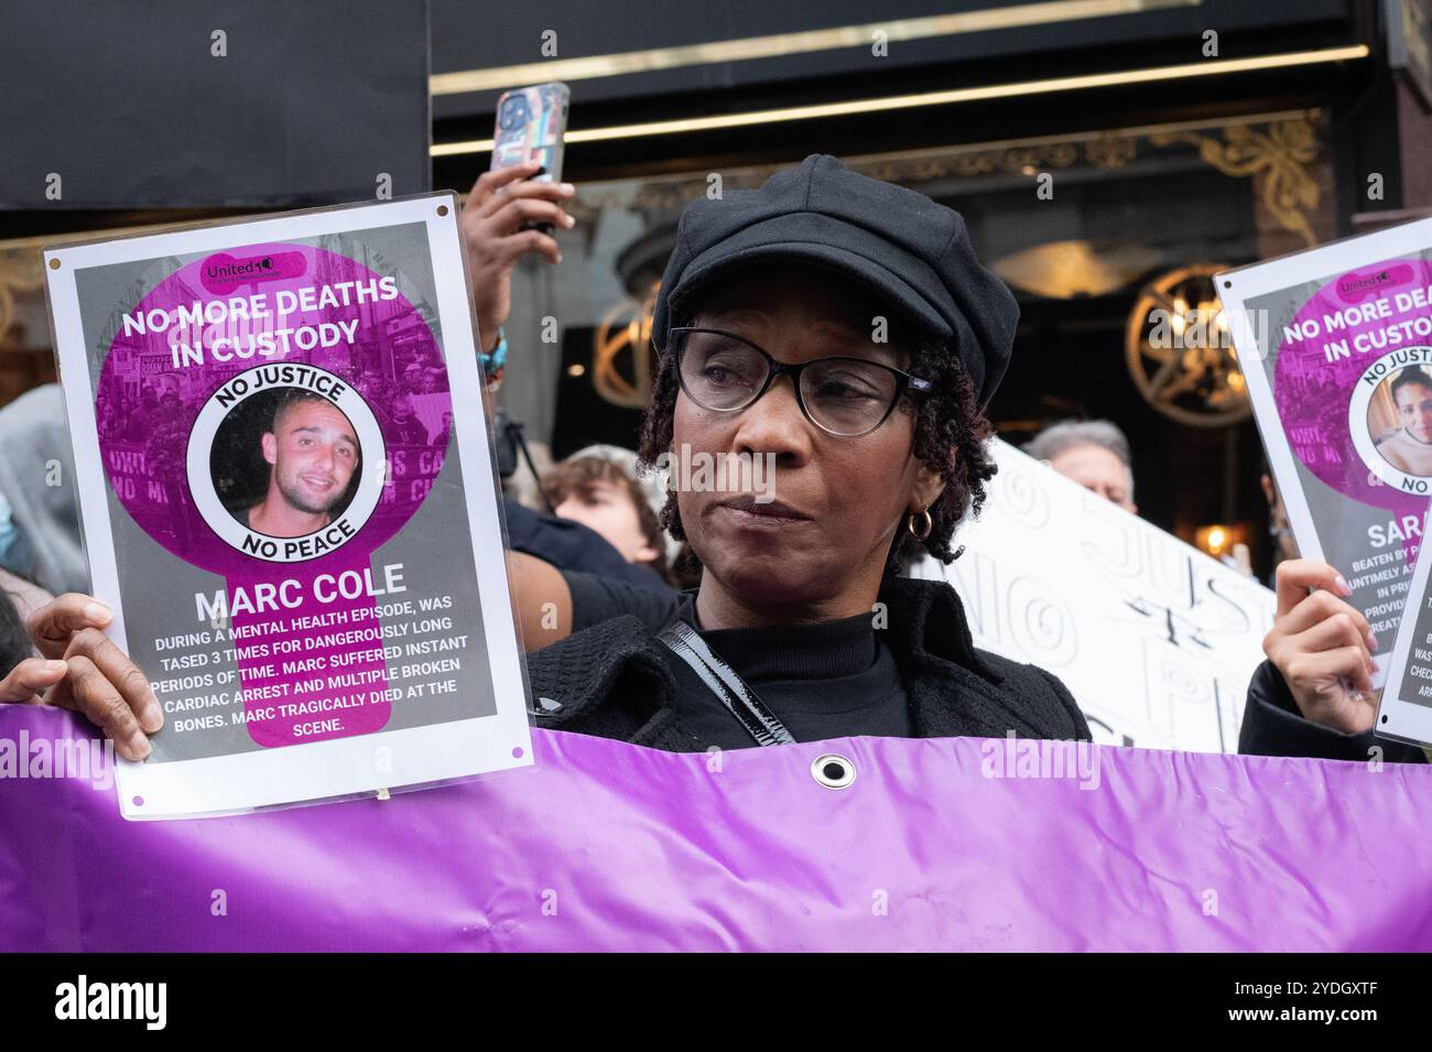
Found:
[[[1012,445],[992,449],[1000,474],[958,531],[964,555],[911,577],[954,585],[977,647],[1058,676],[1095,741],[1237,751],[1273,593]]]

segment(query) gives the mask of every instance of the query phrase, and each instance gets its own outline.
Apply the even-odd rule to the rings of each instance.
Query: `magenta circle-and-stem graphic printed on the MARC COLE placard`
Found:
[[[256,396],[255,386],[274,402],[253,408],[246,429],[231,432],[242,441],[228,462],[261,481],[261,497],[276,504],[282,491],[281,459],[269,458],[266,442],[275,438],[272,406],[284,388],[328,398],[358,432],[358,457],[368,457],[352,475],[358,495],[328,505],[328,522],[337,524],[348,518],[344,507],[362,504],[348,522],[352,532],[312,555],[246,554],[238,538],[256,532],[249,525],[255,494],[219,500],[221,482],[232,479],[209,467],[212,444],[238,412],[225,399],[243,391],[232,402],[241,405]],[[374,570],[372,552],[431,491],[451,411],[447,368],[422,312],[395,275],[338,252],[279,243],[216,253],[166,276],[119,321],[95,404],[106,475],[140,530],[223,577],[221,590],[195,600],[215,611],[215,628],[231,623],[226,641],[235,648],[246,729],[259,746],[387,726],[395,693],[378,620],[394,580]],[[190,479],[205,492],[196,497]],[[225,540],[221,530],[233,535]],[[284,601],[302,591],[298,578],[324,604],[321,617],[295,617],[295,604]],[[325,631],[328,624],[341,630]],[[328,674],[334,668],[342,671]]]

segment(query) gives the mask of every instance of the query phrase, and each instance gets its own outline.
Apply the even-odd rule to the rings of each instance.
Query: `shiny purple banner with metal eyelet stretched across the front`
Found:
[[[36,743],[86,736],[0,707],[0,950],[1432,949],[1422,766],[534,731],[534,770],[129,823],[39,774]]]

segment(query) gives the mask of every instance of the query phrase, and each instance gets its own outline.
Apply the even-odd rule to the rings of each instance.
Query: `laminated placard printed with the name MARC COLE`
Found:
[[[451,195],[47,252],[126,817],[531,763]]]

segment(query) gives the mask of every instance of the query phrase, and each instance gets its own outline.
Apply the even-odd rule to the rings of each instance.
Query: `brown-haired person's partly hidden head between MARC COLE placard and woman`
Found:
[[[634,452],[626,452],[636,464]],[[616,459],[574,454],[543,475],[541,487],[557,515],[596,530],[627,562],[664,575],[666,541],[657,512],[642,485]]]

